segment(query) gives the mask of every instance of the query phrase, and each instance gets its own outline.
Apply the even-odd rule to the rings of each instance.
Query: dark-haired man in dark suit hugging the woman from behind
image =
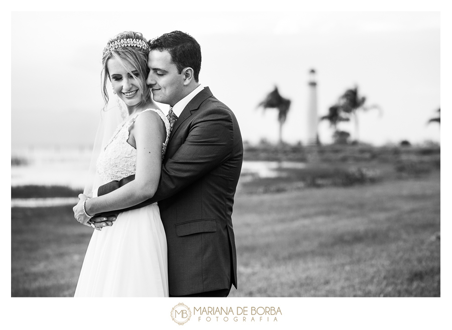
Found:
[[[146,83],[155,101],[170,105],[172,131],[154,197],[133,208],[158,202],[170,296],[226,297],[232,284],[237,288],[231,215],[243,160],[239,124],[231,109],[199,84],[201,48],[194,38],[173,31],[149,46]],[[134,177],[101,186],[97,194]]]

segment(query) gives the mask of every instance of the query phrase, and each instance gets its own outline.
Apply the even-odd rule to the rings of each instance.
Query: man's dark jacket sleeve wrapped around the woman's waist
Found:
[[[190,125],[189,133],[183,144],[163,164],[159,186],[154,196],[133,207],[105,212],[100,216],[141,208],[169,198],[230,157],[234,143],[234,125],[230,110],[221,107],[204,110]],[[100,186],[97,195],[105,195],[134,179],[133,175]]]

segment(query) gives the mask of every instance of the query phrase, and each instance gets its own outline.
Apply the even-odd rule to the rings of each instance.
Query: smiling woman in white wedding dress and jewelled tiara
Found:
[[[96,228],[90,221],[95,214],[148,200],[157,189],[171,129],[146,85],[148,53],[146,39],[136,32],[117,35],[103,50],[105,105],[106,84],[110,81],[127,112],[107,143],[99,148],[93,197],[88,198],[85,189],[86,195],[79,195],[80,202],[74,207],[77,221],[97,229],[85,254],[76,297],[168,296],[166,236],[157,203],[120,213],[115,226],[101,223]],[[116,110],[104,112],[110,111]],[[135,180],[130,184],[96,197],[98,186],[133,174]]]

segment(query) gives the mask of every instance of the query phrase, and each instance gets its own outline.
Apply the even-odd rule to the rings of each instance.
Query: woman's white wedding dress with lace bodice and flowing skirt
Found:
[[[157,112],[165,123],[163,157],[171,131],[168,119],[161,110],[144,111]],[[99,154],[96,170],[104,183],[135,174],[137,150],[127,140],[138,115],[123,121]],[[122,212],[111,227],[94,230],[74,296],[168,296],[166,236],[157,203]]]

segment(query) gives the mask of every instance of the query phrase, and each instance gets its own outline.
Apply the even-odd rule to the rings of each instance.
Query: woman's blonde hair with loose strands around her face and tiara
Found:
[[[107,43],[110,45],[111,43],[121,42],[124,40],[136,40],[140,43],[140,45],[147,45],[147,40],[143,37],[143,35],[139,32],[126,31],[116,35],[113,39],[110,39]],[[141,42],[140,42],[141,41]],[[146,85],[146,78],[149,74],[149,68],[147,66],[149,48],[147,46],[121,46],[118,48],[111,48],[107,50],[107,47],[104,49],[104,55],[102,57],[102,97],[105,101],[105,106],[108,103],[108,92],[107,92],[107,82],[110,80],[110,76],[108,73],[107,62],[109,59],[114,58],[118,60],[121,65],[133,76],[135,77],[131,71],[126,67],[124,62],[128,62],[131,64],[134,69],[138,71],[138,77],[135,78],[137,82],[138,88],[140,89],[142,95],[143,103],[150,102],[152,100],[151,89]],[[106,51],[107,50],[107,51]]]

